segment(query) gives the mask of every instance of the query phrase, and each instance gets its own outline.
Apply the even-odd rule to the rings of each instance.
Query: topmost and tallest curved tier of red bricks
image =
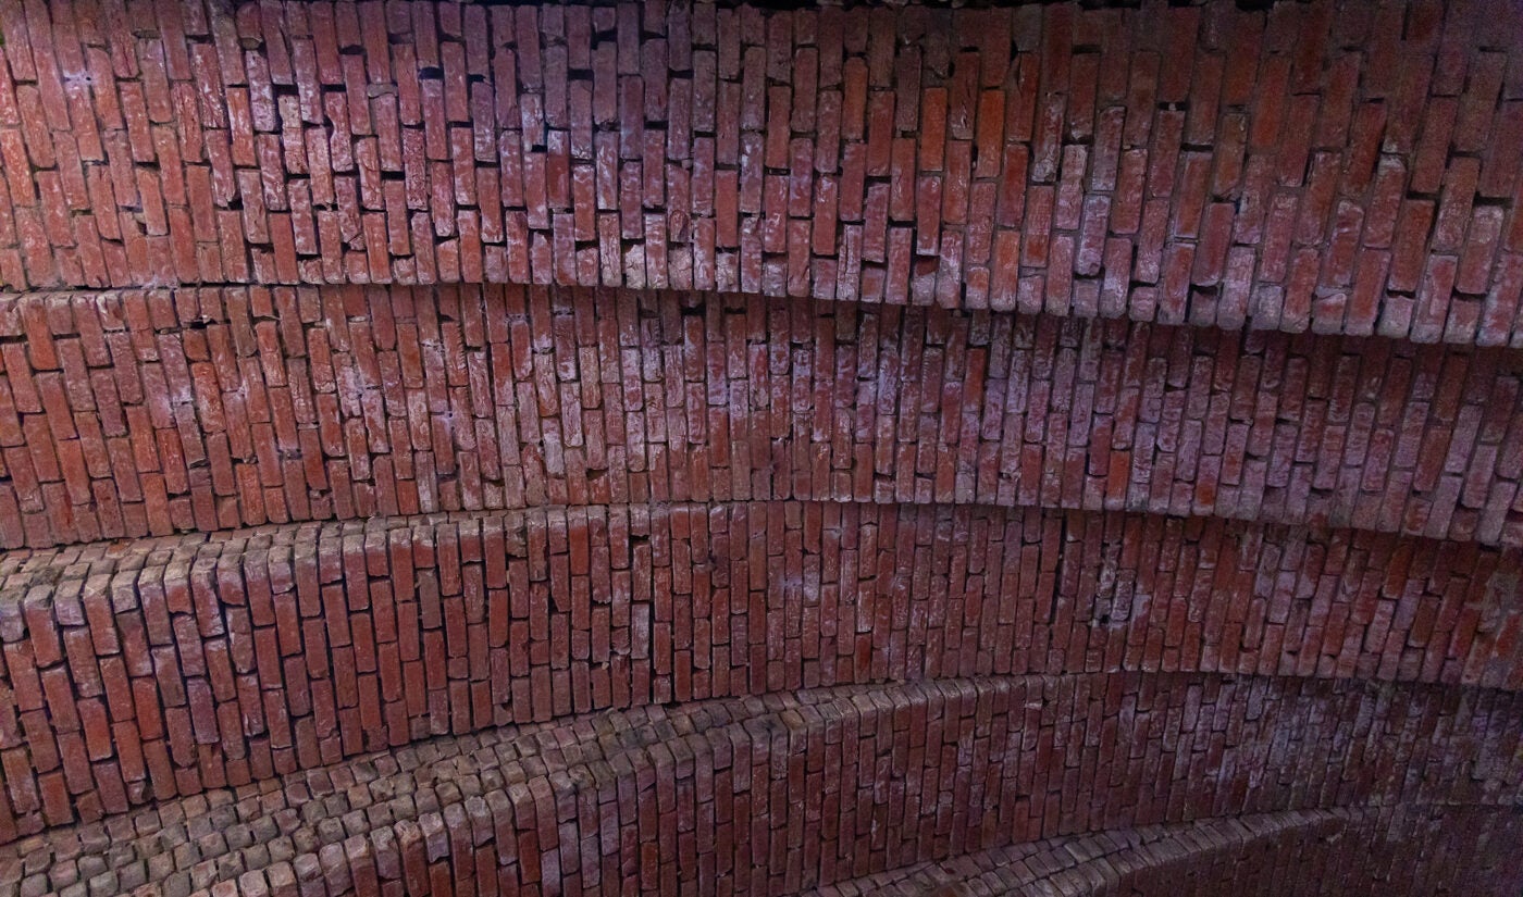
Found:
[[[1523,344],[1508,0],[0,3],[0,285],[516,282]]]

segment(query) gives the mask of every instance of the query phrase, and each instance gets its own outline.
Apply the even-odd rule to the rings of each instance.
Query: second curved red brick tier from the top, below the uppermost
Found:
[[[1523,356],[580,288],[0,297],[0,545],[854,500],[1523,544]]]

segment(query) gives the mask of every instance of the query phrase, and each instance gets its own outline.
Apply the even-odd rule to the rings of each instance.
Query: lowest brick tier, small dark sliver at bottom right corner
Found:
[[[1479,807],[1311,810],[1017,844],[822,888],[818,897],[1430,897],[1523,888],[1523,819]]]

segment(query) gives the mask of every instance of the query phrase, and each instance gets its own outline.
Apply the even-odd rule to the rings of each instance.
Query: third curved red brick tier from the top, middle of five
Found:
[[[431,734],[816,685],[1183,670],[1517,690],[1517,570],[1346,530],[838,503],[12,551],[0,839]]]

